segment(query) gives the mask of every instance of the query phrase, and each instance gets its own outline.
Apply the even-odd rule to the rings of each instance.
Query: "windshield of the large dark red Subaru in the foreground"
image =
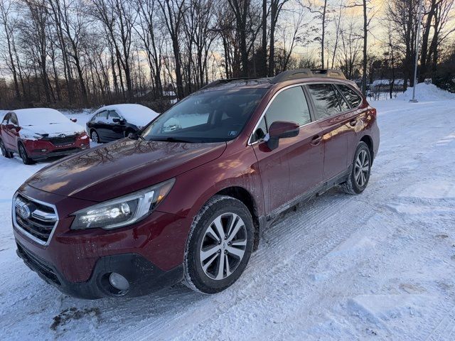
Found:
[[[267,89],[218,90],[193,94],[155,119],[145,140],[221,142],[235,139]]]

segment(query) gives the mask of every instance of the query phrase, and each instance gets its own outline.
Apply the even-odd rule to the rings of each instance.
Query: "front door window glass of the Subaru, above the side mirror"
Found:
[[[311,122],[308,103],[301,87],[291,87],[277,94],[265,113],[267,126],[274,121],[295,122],[302,126]]]

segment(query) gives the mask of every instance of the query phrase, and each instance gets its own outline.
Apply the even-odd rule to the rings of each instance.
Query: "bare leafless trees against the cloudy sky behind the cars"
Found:
[[[444,65],[450,88],[454,1],[423,1],[419,23],[418,0],[0,0],[0,106],[162,110],[217,78],[297,67],[407,87],[418,27],[419,81]]]

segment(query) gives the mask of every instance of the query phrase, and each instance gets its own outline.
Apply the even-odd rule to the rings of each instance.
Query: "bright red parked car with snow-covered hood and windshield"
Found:
[[[12,158],[18,153],[26,165],[87,148],[90,140],[84,128],[54,109],[14,110],[0,123],[1,154]]]

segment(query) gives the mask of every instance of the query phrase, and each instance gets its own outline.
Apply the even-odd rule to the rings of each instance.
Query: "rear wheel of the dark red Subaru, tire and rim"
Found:
[[[360,141],[355,149],[352,171],[341,187],[348,194],[360,194],[365,190],[370,180],[371,153],[365,142]]]

